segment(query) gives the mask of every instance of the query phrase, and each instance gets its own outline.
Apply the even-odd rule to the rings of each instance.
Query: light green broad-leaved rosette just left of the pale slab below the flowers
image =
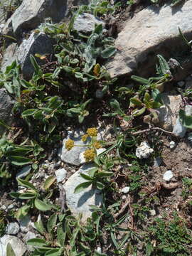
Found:
[[[53,191],[50,190],[50,186],[54,183],[55,177],[50,176],[46,179],[43,185],[43,191],[38,191],[35,186],[29,181],[25,181],[21,178],[17,178],[18,184],[27,188],[24,193],[11,192],[10,196],[21,200],[27,200],[27,203],[18,209],[16,218],[23,218],[28,214],[28,211],[37,208],[38,210],[52,210],[58,209],[58,207],[48,202],[48,199],[53,195]]]

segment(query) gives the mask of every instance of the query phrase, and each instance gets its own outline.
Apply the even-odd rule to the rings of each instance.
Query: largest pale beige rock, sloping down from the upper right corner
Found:
[[[191,11],[192,1],[189,0],[174,9],[169,4],[161,8],[149,6],[135,14],[115,41],[119,50],[107,63],[111,77],[130,75],[135,70],[140,76],[148,77],[154,73],[157,54],[171,58],[174,48],[186,49],[183,39],[178,36],[178,26],[191,40]]]

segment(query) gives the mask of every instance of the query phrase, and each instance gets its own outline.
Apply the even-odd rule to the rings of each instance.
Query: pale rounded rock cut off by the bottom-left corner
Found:
[[[6,255],[6,246],[10,243],[11,247],[14,250],[15,256],[23,256],[26,252],[26,245],[23,242],[16,238],[14,235],[4,235],[0,238],[0,255]]]

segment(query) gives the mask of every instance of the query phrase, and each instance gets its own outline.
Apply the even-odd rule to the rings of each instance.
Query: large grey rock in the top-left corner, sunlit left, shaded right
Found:
[[[45,18],[59,22],[65,17],[67,1],[63,0],[23,0],[21,6],[6,22],[4,34],[11,27],[15,36],[20,36],[25,30],[37,28]]]

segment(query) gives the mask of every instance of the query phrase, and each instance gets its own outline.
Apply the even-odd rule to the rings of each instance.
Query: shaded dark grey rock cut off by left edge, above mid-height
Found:
[[[11,101],[5,88],[0,89],[0,119],[6,124],[11,124],[11,110],[14,107],[14,102]],[[4,127],[0,125],[0,135],[3,134]]]

